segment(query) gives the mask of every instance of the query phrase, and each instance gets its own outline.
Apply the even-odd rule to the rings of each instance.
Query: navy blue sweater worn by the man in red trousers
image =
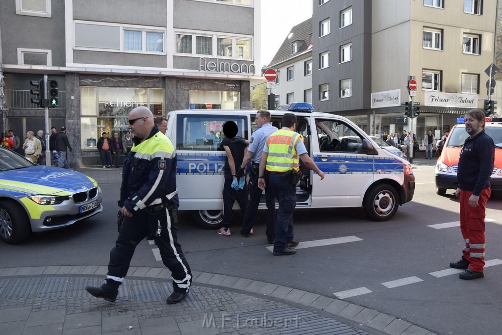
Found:
[[[458,188],[479,196],[483,189],[490,187],[494,159],[493,140],[484,130],[474,137],[468,137],[458,160]]]

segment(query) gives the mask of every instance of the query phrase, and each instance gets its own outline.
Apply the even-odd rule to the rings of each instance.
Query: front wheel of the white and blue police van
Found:
[[[366,192],[362,208],[373,221],[387,221],[398,211],[399,196],[391,185],[373,185]]]

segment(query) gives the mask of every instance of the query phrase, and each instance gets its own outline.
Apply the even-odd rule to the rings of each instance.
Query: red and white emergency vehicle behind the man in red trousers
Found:
[[[436,193],[439,195],[444,195],[447,189],[456,189],[458,186],[458,159],[469,134],[465,131],[464,118],[458,118],[457,122],[443,144],[441,156],[434,169]],[[490,178],[491,191],[502,191],[502,118],[486,118],[485,132],[495,144],[495,161]]]

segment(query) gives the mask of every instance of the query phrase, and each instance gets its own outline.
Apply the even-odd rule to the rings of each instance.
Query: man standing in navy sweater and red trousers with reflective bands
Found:
[[[493,170],[495,146],[484,132],[485,115],[479,109],[465,114],[465,140],[458,159],[458,188],[460,197],[460,232],[465,241],[462,258],[450,267],[465,270],[460,279],[484,277],[484,216],[490,197],[490,176]]]

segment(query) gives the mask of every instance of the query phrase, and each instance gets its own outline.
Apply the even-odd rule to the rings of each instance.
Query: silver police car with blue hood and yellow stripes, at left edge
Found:
[[[0,240],[73,225],[103,210],[96,181],[77,171],[36,165],[0,146]]]

